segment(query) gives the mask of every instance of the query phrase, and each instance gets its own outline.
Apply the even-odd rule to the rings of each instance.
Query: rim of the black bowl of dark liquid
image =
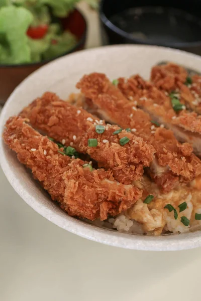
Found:
[[[156,45],[155,42],[151,42],[151,41],[142,41],[141,39],[138,38],[134,38],[132,36],[132,34],[129,34],[128,32],[120,29],[119,27],[117,27],[115,24],[113,24],[105,15],[104,13],[104,4],[105,4],[106,0],[100,0],[100,4],[99,4],[99,16],[100,16],[100,20],[103,22],[103,24],[109,28],[110,30],[112,30],[113,32],[115,32],[116,34],[118,34],[119,36],[128,39],[130,41],[132,41],[133,43],[137,43],[137,44],[141,44],[141,45]],[[162,7],[162,4],[160,5],[160,7]],[[190,47],[200,47],[201,46],[201,40],[200,41],[196,41],[196,42],[174,42],[174,43],[157,43],[158,46],[161,47],[171,47],[171,48],[190,48]]]

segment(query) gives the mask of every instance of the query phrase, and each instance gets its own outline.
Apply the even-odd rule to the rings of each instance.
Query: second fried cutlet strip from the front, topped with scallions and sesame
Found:
[[[143,168],[153,160],[155,149],[143,139],[126,130],[117,131],[118,126],[105,124],[53,93],[47,92],[36,99],[21,116],[62,144],[88,154],[100,167],[111,169],[115,179],[123,184],[140,179]]]

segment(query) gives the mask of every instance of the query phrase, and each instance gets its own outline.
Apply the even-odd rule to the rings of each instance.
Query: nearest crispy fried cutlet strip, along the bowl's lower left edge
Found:
[[[6,123],[4,141],[69,215],[105,220],[108,214],[115,216],[130,208],[142,196],[138,188],[116,182],[111,171],[91,171],[84,168],[82,160],[61,155],[57,144],[26,121],[11,117]]]

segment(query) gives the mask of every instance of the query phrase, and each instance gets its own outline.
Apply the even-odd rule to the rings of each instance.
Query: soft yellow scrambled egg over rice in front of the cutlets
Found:
[[[195,220],[195,213],[201,213],[201,177],[193,180],[189,186],[179,186],[167,194],[160,194],[156,187],[150,186],[146,178],[140,185],[143,189],[151,190],[154,199],[149,204],[143,203],[143,199],[138,200],[126,212],[126,216],[141,223],[146,234],[184,233],[201,227],[201,220]],[[178,206],[184,202],[187,208],[179,212]],[[174,211],[169,212],[164,208],[167,204],[176,209],[177,219]],[[183,216],[189,220],[189,225],[181,222]]]

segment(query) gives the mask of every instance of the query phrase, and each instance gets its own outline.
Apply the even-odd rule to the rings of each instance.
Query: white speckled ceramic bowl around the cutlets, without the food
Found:
[[[75,84],[80,77],[91,72],[106,73],[111,80],[136,73],[148,79],[152,66],[164,61],[175,62],[197,72],[201,70],[200,57],[155,46],[107,46],[59,58],[32,73],[11,94],[0,117],[1,136],[10,116],[18,114],[23,107],[46,91],[55,92],[62,99],[67,99],[70,93],[77,91]],[[67,231],[100,243],[128,249],[167,251],[201,246],[201,231],[161,236],[126,234],[100,223],[68,216],[51,201],[3,139],[0,141],[0,153],[2,169],[15,191],[36,212]]]

